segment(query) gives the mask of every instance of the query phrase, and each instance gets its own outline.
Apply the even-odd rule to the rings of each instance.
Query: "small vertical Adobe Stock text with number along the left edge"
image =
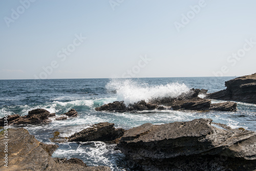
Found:
[[[4,166],[8,167],[8,114],[5,113],[5,116],[4,116],[4,153],[5,153],[5,156],[4,156]]]

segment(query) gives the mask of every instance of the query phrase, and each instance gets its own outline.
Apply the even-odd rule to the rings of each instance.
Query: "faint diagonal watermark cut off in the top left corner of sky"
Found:
[[[7,25],[7,27],[10,27],[10,24],[14,23],[15,20],[17,20],[20,17],[20,15],[22,15],[35,1],[36,0],[20,0],[20,5],[16,9],[11,9],[10,17],[4,17],[5,24]]]

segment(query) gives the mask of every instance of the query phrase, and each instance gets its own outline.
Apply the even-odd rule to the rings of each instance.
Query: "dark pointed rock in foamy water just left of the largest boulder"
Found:
[[[124,134],[123,129],[115,129],[114,123],[101,122],[69,137],[69,141],[112,141]]]

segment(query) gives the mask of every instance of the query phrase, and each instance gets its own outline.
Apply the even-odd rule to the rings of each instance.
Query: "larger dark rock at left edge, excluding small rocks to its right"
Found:
[[[9,115],[8,125],[12,124],[39,124],[39,123],[48,123],[50,112],[45,109],[35,109],[28,112],[26,116],[19,115]],[[4,118],[0,119],[0,125],[4,125]]]

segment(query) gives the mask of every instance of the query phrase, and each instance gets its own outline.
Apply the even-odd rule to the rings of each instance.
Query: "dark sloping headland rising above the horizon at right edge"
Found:
[[[207,94],[206,98],[256,104],[256,73],[225,82],[226,90]]]

